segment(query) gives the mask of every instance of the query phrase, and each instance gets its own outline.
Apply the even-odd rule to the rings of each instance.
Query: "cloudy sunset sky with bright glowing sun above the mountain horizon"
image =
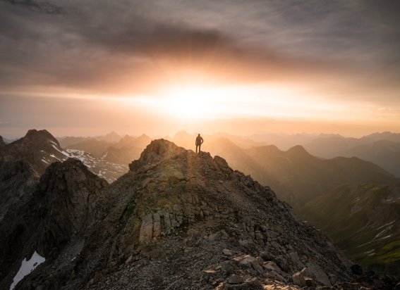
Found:
[[[400,2],[0,0],[0,135],[400,132]]]

